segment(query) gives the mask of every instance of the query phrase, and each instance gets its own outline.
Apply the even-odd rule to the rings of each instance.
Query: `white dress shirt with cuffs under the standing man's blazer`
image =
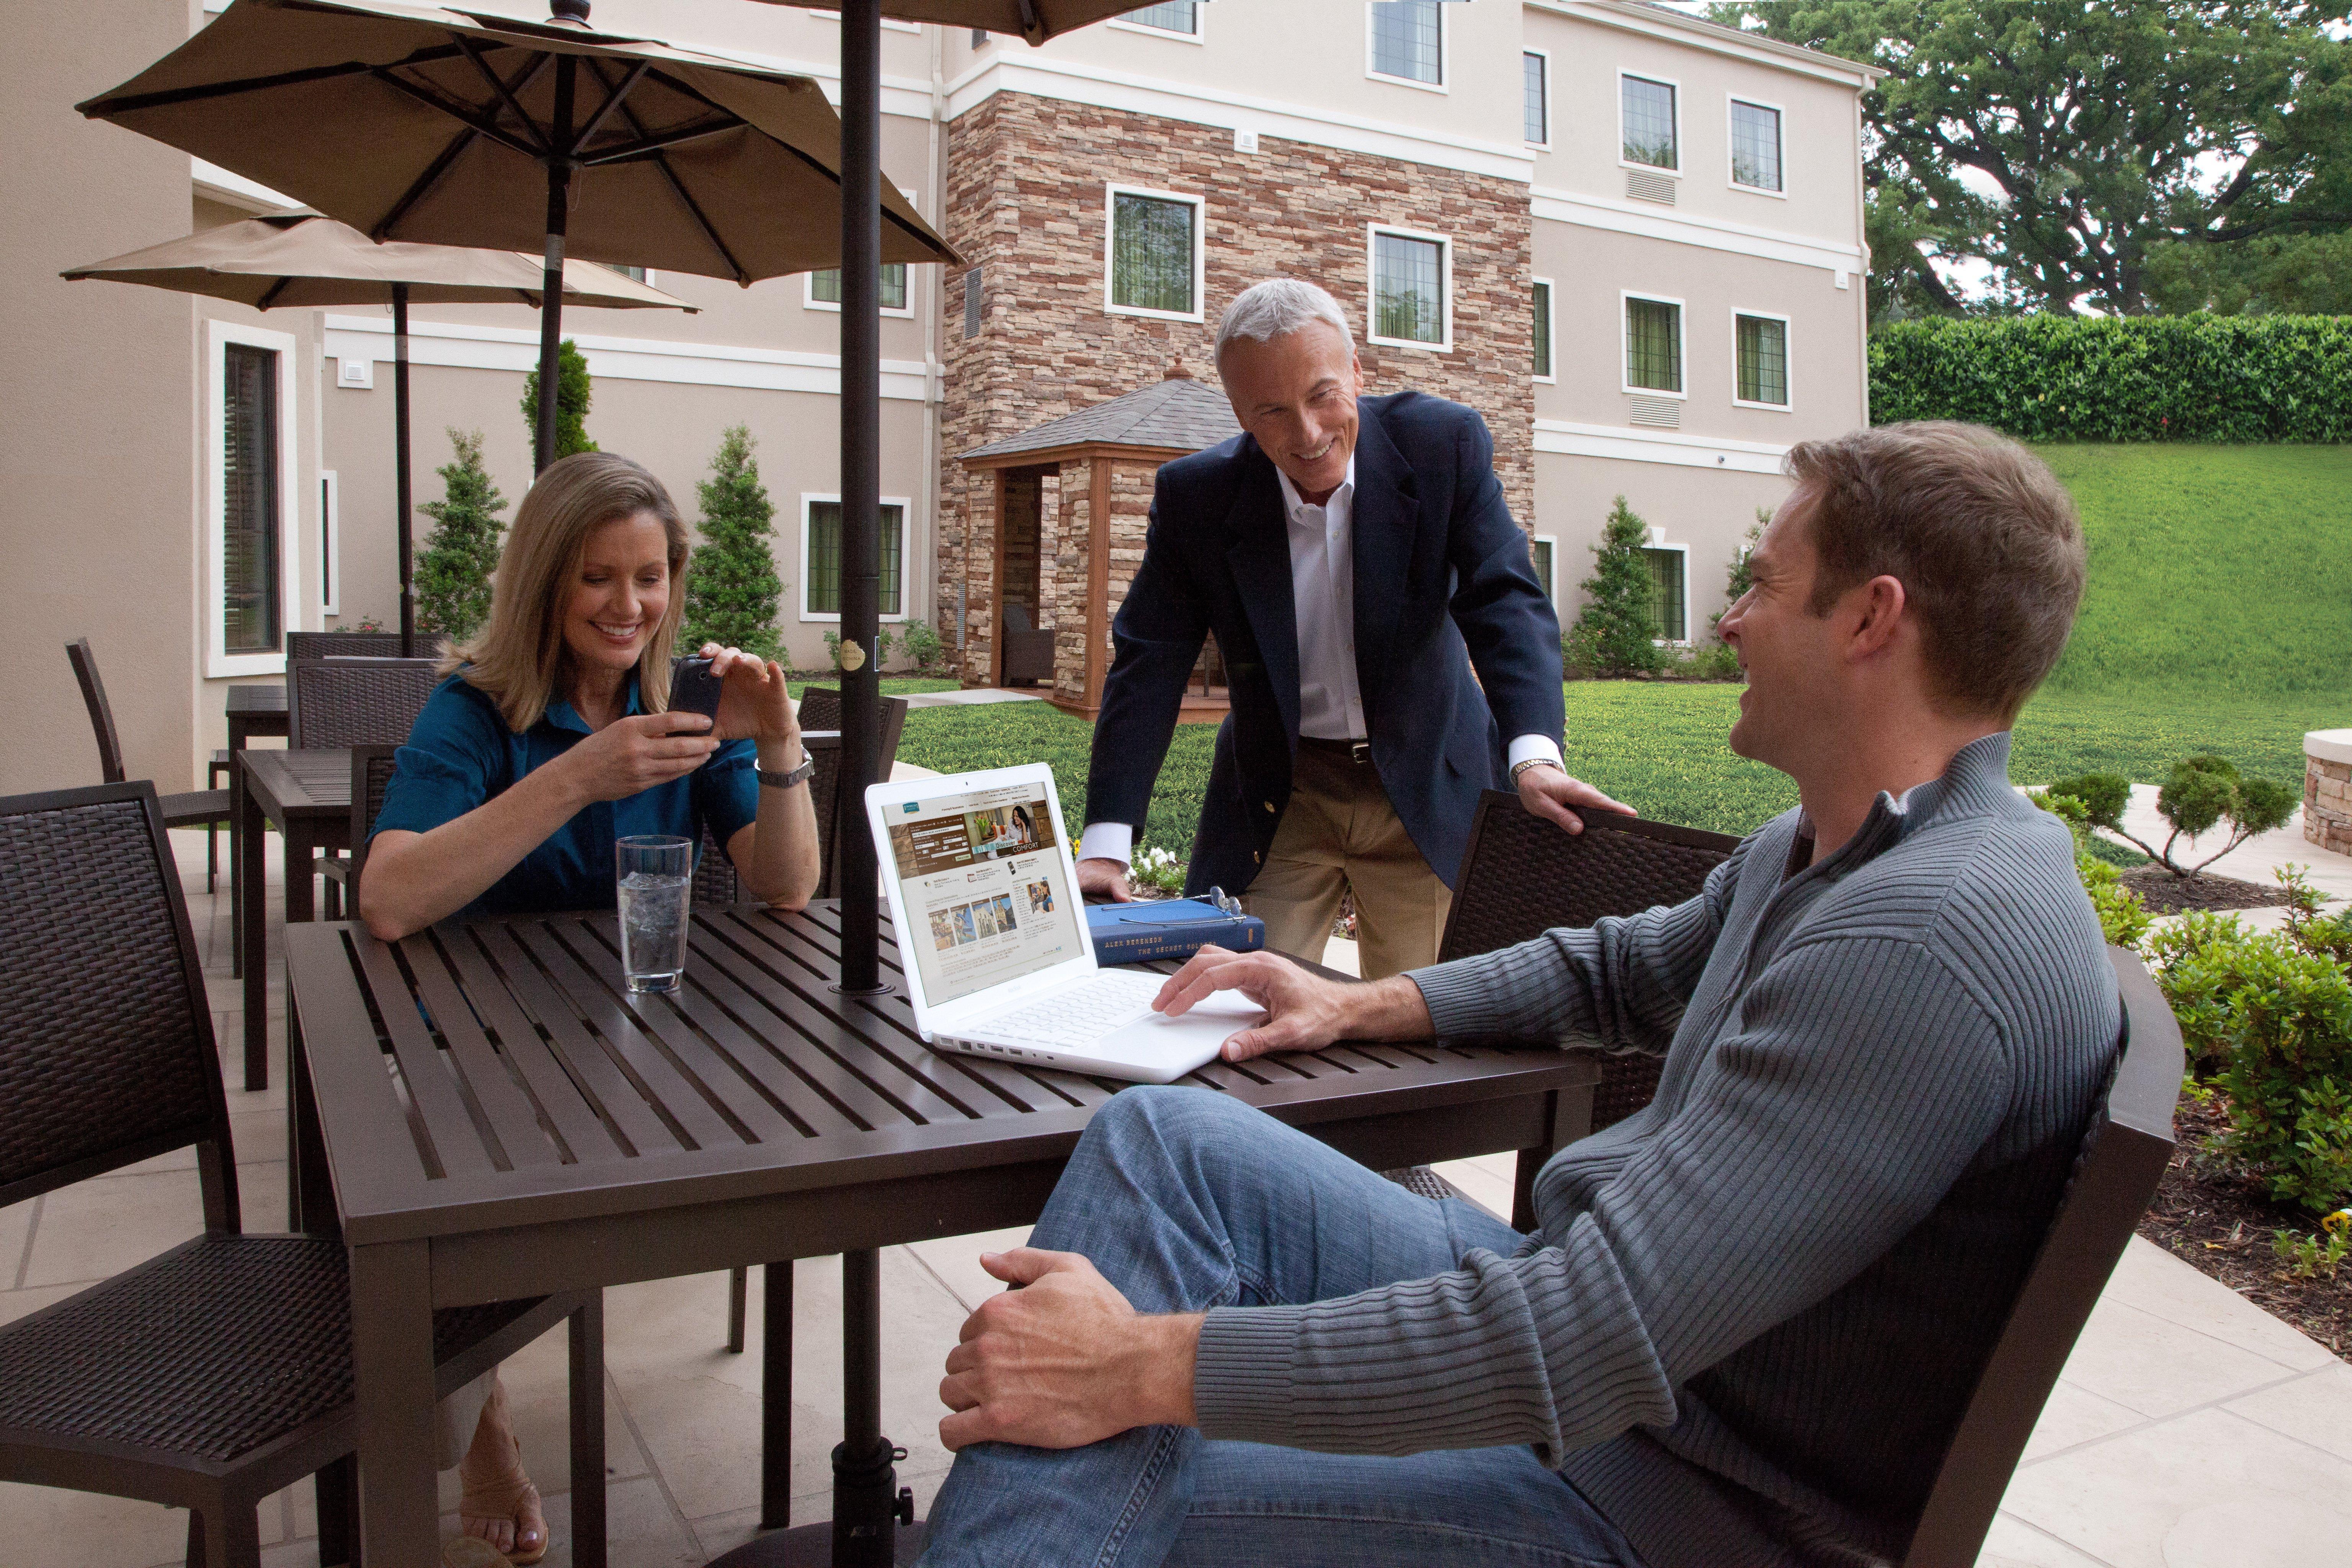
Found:
[[[1355,675],[1355,456],[1348,477],[1322,505],[1312,505],[1275,470],[1282,482],[1282,512],[1289,517],[1291,611],[1298,625],[1298,733],[1317,741],[1364,741],[1364,691]],[[1562,764],[1550,736],[1515,736],[1508,764],[1529,757]],[[1080,835],[1080,860],[1127,860],[1134,853],[1134,823],[1087,823]]]

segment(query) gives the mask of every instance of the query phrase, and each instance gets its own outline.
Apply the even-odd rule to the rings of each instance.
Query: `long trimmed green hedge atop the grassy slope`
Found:
[[[1870,418],[2027,442],[2352,440],[2347,315],[2020,315],[1870,339]]]

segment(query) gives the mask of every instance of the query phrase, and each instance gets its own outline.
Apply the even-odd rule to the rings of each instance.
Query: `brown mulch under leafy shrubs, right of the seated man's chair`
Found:
[[[2338,1265],[2336,1279],[2286,1276],[2272,1253],[2272,1232],[2312,1234],[2317,1220],[2303,1208],[2272,1204],[2258,1182],[2211,1171],[2199,1159],[2206,1140],[2227,1128],[2223,1105],[2223,1095],[2204,1105],[2180,1100],[2173,1112],[2180,1147],[2140,1220],[2140,1234],[2352,1361],[2352,1262]]]

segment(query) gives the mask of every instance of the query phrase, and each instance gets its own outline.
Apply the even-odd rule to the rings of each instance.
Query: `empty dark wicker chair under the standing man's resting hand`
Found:
[[[1590,926],[1604,914],[1639,914],[1696,898],[1708,872],[1740,844],[1722,832],[1618,811],[1578,816],[1585,830],[1566,832],[1529,816],[1510,790],[1479,797],[1454,912],[1437,945],[1439,964],[1512,947],[1555,926]],[[1592,1131],[1649,1105],[1663,1063],[1651,1051],[1604,1053],[1602,1081],[1592,1091]]]

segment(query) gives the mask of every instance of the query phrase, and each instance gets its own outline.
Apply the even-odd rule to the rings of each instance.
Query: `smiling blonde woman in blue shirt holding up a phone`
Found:
[[[753,898],[807,905],[816,813],[783,670],[706,644],[717,722],[668,710],[684,567],[687,524],[637,463],[581,451],[539,475],[499,555],[489,625],[449,649],[395,757],[358,891],[369,931],[612,907],[614,839],[701,842],[706,827]],[[546,1516],[494,1373],[442,1401],[440,1446],[463,1479],[466,1535],[536,1563]]]

